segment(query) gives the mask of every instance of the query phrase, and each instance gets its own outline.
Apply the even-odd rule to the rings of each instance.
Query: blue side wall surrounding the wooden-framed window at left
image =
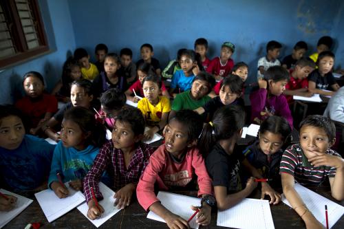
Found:
[[[39,0],[50,53],[0,71],[0,104],[12,103],[23,93],[21,78],[25,72],[41,72],[47,91],[61,78],[63,62],[75,49],[74,30],[67,0]]]

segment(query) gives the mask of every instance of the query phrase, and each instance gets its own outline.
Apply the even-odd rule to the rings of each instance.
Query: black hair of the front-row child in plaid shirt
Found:
[[[144,133],[144,117],[137,108],[128,107],[127,109],[122,109],[116,117],[116,122],[118,121],[130,124],[131,130],[136,136]]]

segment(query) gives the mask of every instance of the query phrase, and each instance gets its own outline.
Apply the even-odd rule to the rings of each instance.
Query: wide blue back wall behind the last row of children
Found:
[[[131,48],[136,61],[140,45],[151,43],[164,67],[179,48],[193,48],[195,39],[203,36],[210,44],[210,57],[219,54],[224,41],[235,43],[233,59],[250,65],[251,81],[257,59],[266,54],[266,43],[272,39],[283,44],[281,58],[301,39],[310,52],[323,35],[344,41],[339,29],[343,5],[341,0],[326,1],[325,6],[322,0],[69,1],[76,46],[92,55],[97,43],[105,43],[114,52]],[[337,54],[342,62],[343,46]]]

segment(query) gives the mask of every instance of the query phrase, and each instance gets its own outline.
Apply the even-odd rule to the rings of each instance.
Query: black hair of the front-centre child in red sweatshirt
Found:
[[[203,121],[202,116],[192,110],[180,110],[175,113],[169,123],[172,120],[176,120],[183,124],[183,127],[187,129],[188,132],[188,142],[197,140],[202,133]]]

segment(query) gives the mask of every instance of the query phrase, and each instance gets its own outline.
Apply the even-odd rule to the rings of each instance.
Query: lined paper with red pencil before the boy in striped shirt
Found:
[[[330,228],[332,228],[336,221],[341,219],[341,216],[344,214],[344,207],[336,204],[334,201],[331,201],[318,193],[314,193],[312,190],[303,187],[301,184],[294,184],[294,188],[297,193],[299,193],[308,210],[312,212],[314,217],[318,219],[323,226],[326,226],[325,205],[327,205],[328,225]],[[284,204],[287,204],[292,208],[284,194],[282,194],[282,201]]]

